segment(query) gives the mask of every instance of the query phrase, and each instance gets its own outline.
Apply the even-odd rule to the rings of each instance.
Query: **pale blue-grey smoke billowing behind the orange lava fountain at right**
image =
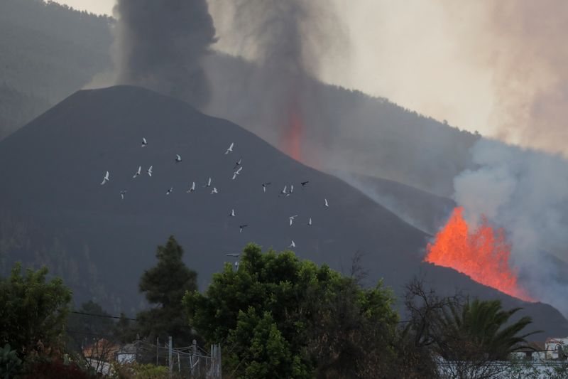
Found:
[[[488,139],[471,152],[476,169],[454,179],[466,220],[476,225],[486,215],[505,228],[525,289],[568,314],[568,162]]]

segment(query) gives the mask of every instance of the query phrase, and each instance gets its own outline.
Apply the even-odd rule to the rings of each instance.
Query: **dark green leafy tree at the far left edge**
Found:
[[[0,279],[0,346],[9,343],[23,357],[32,352],[57,353],[64,346],[71,290],[60,278],[46,281],[47,267]]]

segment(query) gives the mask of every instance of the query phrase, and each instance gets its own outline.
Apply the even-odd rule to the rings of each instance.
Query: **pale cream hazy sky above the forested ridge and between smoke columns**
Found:
[[[508,142],[566,154],[568,1],[326,0],[349,43],[319,76]],[[111,14],[114,0],[60,0]],[[221,14],[212,14],[224,44]],[[225,41],[227,38],[225,38]],[[566,117],[564,117],[566,116]]]

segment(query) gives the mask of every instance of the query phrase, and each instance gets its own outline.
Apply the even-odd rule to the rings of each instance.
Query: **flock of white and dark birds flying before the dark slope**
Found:
[[[146,139],[146,137],[143,137],[141,147],[146,147],[146,146],[148,146],[148,140]],[[234,142],[231,142],[231,144],[226,149],[224,154],[233,153],[234,147],[235,147]],[[182,157],[180,156],[180,154],[175,154],[175,159],[174,159],[175,164],[179,164],[181,161],[182,161]],[[236,180],[236,178],[239,177],[239,175],[241,174],[241,171],[243,170],[242,158],[239,158],[239,160],[235,162],[233,169],[234,169],[234,172],[233,172],[233,176],[232,176],[231,179]],[[152,173],[153,173],[152,170],[153,170],[153,166],[148,167],[148,169],[146,170],[146,174],[148,174],[148,176],[150,176],[150,177],[152,176]],[[132,178],[137,178],[138,176],[141,176],[141,173],[142,173],[142,166],[138,166],[138,170],[136,170],[136,173],[132,176]],[[104,174],[104,177],[102,179],[101,186],[104,186],[104,184],[108,183],[110,180],[111,180],[110,173],[109,173],[109,171],[106,171],[105,174]],[[300,185],[302,186],[302,189],[305,188],[308,183],[310,183],[310,181],[302,181],[300,183]],[[261,183],[263,193],[266,193],[267,188],[270,185],[271,185],[271,182]],[[210,191],[210,193],[212,195],[219,193],[219,190],[217,190],[217,188],[215,186],[212,186],[212,178],[210,178],[210,177],[207,178],[207,181],[204,183],[202,188],[212,188],[211,191]],[[168,188],[168,190],[165,192],[165,195],[169,196],[173,192],[173,189],[174,189],[173,187]],[[190,188],[187,189],[187,191],[186,191],[186,193],[192,193],[192,192],[195,192],[195,181],[192,181]],[[120,194],[121,200],[124,200],[124,198],[126,197],[126,193],[127,193],[126,190],[120,191],[119,194]],[[284,188],[280,191],[278,196],[288,197],[288,196],[293,195],[293,193],[294,193],[294,185],[290,184],[289,188],[288,188],[288,185],[285,185]],[[324,198],[323,206],[325,208],[329,208],[329,202],[327,201],[327,198]],[[235,212],[234,208],[231,208],[231,211],[229,212],[229,217],[236,217],[236,212]],[[294,220],[297,217],[298,217],[298,215],[290,215],[290,217],[288,218],[290,226],[293,225]],[[311,217],[308,218],[307,225],[312,226],[312,218]],[[249,226],[248,224],[239,225],[239,233],[243,233],[243,230],[245,228],[247,228],[248,226]],[[288,247],[292,247],[292,248],[296,247],[294,240],[291,240],[291,243],[290,243],[290,245],[288,245]],[[227,255],[234,256],[232,254],[227,254]]]

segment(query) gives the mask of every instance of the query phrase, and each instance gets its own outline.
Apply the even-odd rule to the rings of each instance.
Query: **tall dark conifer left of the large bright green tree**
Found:
[[[197,291],[197,273],[182,261],[183,249],[173,236],[165,246],[158,246],[155,256],[158,263],[143,273],[139,283],[140,291],[155,307],[138,313],[138,333],[162,341],[173,336],[177,346],[187,346],[195,336],[187,326],[182,298],[187,291]]]

